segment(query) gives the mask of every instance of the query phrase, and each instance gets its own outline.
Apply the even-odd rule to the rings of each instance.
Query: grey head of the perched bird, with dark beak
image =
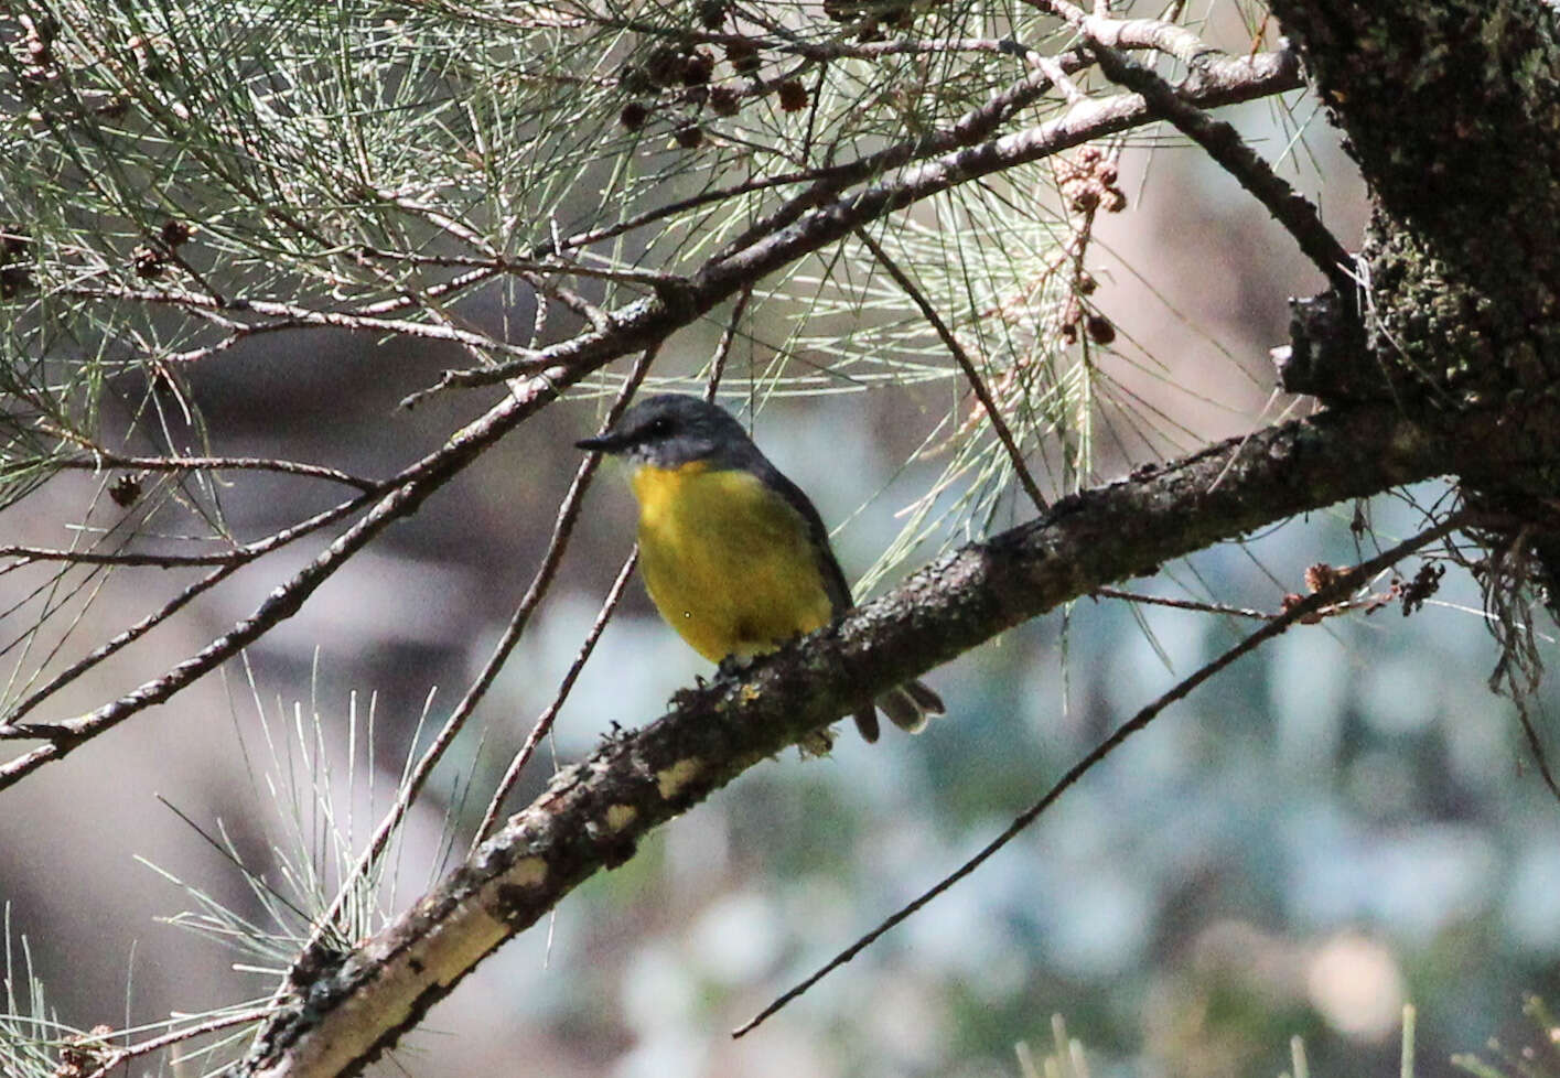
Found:
[[[624,412],[605,434],[574,445],[621,454],[652,468],[679,468],[694,460],[736,468],[758,456],[730,412],[686,393],[646,398]]]

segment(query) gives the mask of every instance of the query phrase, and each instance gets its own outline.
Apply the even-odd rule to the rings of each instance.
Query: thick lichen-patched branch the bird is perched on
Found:
[[[1552,423],[1549,412],[1533,426]],[[1139,470],[958,551],[758,660],[741,682],[680,694],[672,713],[560,772],[398,924],[346,956],[306,955],[292,998],[234,1073],[356,1073],[487,953],[632,856],[654,827],[863,699],[1164,560],[1449,468],[1510,468],[1554,449],[1494,437],[1509,418],[1463,417],[1452,437],[1390,407],[1323,413]]]

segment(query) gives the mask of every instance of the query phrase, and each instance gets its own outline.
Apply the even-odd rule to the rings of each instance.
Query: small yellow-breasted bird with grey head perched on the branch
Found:
[[[576,446],[629,459],[644,587],[661,618],[710,661],[774,651],[850,608],[813,502],[725,409],[661,393]],[[942,715],[942,700],[920,682],[889,690],[877,707],[911,733]],[[875,710],[855,719],[861,736],[877,741]]]

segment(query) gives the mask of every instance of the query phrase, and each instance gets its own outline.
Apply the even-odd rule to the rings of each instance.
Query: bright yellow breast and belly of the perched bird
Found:
[[[807,521],[747,471],[640,466],[640,571],[661,616],[711,661],[833,616]]]

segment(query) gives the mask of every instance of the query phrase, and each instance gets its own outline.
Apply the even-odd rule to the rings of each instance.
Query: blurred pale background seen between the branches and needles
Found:
[[[1226,44],[1239,48],[1243,28],[1239,20],[1225,27]],[[396,33],[385,28],[387,37]],[[452,50],[470,44],[462,42]],[[984,84],[967,89],[978,94]],[[420,137],[418,122],[435,122],[384,105],[387,117],[407,125],[409,142]],[[1365,207],[1345,158],[1318,125],[1306,128],[1303,144],[1293,140],[1296,117],[1312,111],[1299,97],[1282,109],[1245,106],[1232,115],[1270,158],[1284,158],[1335,231],[1354,242]],[[523,134],[521,125],[515,153],[543,151]],[[610,122],[574,137],[576,147],[629,140]],[[604,145],[568,158],[576,183]],[[317,150],[301,128],[296,150]],[[654,150],[672,154],[660,142]],[[1056,488],[1304,407],[1270,396],[1265,360],[1285,339],[1284,298],[1314,285],[1303,261],[1201,154],[1145,134],[1125,147],[1120,168],[1131,206],[1101,223],[1090,262],[1101,282],[1095,303],[1119,339],[1090,362],[1101,384],[1129,387],[1136,404],[1117,421],[1139,440],[1097,438],[1086,470],[1070,457],[1050,473]],[[710,170],[718,175],[719,165]],[[562,201],[566,184],[557,183],[538,198]],[[495,184],[493,201],[473,212],[518,220],[507,197]],[[345,203],[339,225],[367,226]],[[393,231],[385,220],[370,225]],[[933,236],[934,226],[930,217],[917,225]],[[115,228],[125,246],[142,231],[129,218]],[[214,222],[207,250],[220,250],[222,236]],[[899,239],[908,248],[930,242],[914,231]],[[694,243],[682,234],[669,232],[665,243],[697,250],[679,246]],[[317,265],[309,250],[275,254],[290,275],[307,278]],[[852,318],[844,331],[827,318],[805,320],[828,275],[850,268],[811,267],[814,276],[799,271],[791,290],[761,296],[724,387],[733,409],[766,402],[753,421],[760,445],[827,521],[842,523],[836,548],[856,576],[883,551],[914,565],[939,543],[1028,510],[1008,495],[980,502],[980,513],[948,516],[969,490],[959,484],[991,479],[963,474],[933,499],[933,518],[947,527],[928,530],[919,546],[902,541],[900,510],[938,488],[958,452],[945,426],[956,382],[945,360],[909,345],[917,363],[936,359],[939,367],[877,371],[900,378],[880,378],[883,388],[872,393],[860,392],[861,379],[831,374],[856,359],[850,340],[863,351],[895,340],[888,323],[874,321],[870,304],[852,318],[875,326],[872,334],[855,335]],[[321,275],[309,287],[335,284]],[[496,289],[462,315],[529,323],[530,312],[510,301],[519,303]],[[672,342],[655,371],[661,384],[696,387],[722,314],[702,334]],[[103,340],[78,329],[87,351],[100,354]],[[12,323],[8,332],[22,340],[30,329]],[[275,334],[184,371],[181,393],[200,421],[181,426],[168,407],[175,418],[162,429],[181,446],[285,451],[384,474],[471,412],[451,396],[415,412],[396,407],[460,365],[463,356],[448,345]],[[775,388],[783,392],[768,399]],[[133,426],[153,396],[148,385],[144,398],[115,398],[94,418]],[[577,398],[501,443],[267,635],[248,655],[253,672],[209,679],[5,796],[0,899],[11,906],[12,931],[28,934],[33,970],[64,1020],[131,1023],[265,994],[265,977],[234,970],[215,944],[190,944],[154,920],[187,897],[131,855],[259,916],[242,874],[154,794],[203,825],[220,819],[245,863],[276,880],[271,844],[298,839],[287,836],[287,797],[276,797],[264,775],[289,768],[306,775],[306,758],[323,757],[342,777],[356,754],[353,778],[343,777],[337,794],[367,833],[368,774],[379,772],[382,807],[420,716],[459,696],[524,588],[577,462],[569,445],[599,413],[588,390]],[[1133,415],[1156,418],[1134,426]],[[80,474],[30,487],[22,513],[9,515],[9,534],[53,538],[101,515],[105,482]],[[175,505],[209,504],[200,491],[181,502],[170,490]],[[1420,527],[1443,495],[1426,485],[1337,507],[1164,566],[1133,587],[1275,610],[1285,591],[1303,590],[1306,566],[1359,560]],[[296,501],[293,485],[254,476],[226,480],[220,498],[222,527],[234,534],[312,507]],[[1351,527],[1357,512],[1363,532]],[[448,863],[446,811],[457,825],[474,822],[509,752],[552,699],[630,535],[627,493],[601,484],[563,577],[482,708],[484,730],[463,738],[431,803],[409,824],[392,874],[402,902],[441,856]],[[300,565],[304,555],[287,557]],[[187,655],[273,585],[264,571],[240,574],[190,624],[137,652],[137,668],[164,669]],[[20,593],[5,598],[6,608],[22,602]],[[137,585],[115,577],[76,632],[111,632],[142,599]],[[1292,1034],[1304,1036],[1314,1075],[1395,1073],[1406,1002],[1420,1012],[1420,1075],[1452,1073],[1452,1053],[1479,1050],[1491,1036],[1526,1036],[1524,994],[1560,995],[1560,807],[1532,768],[1513,707],[1485,685],[1498,649],[1476,583],[1452,569],[1412,618],[1388,605],[1329,619],[1243,660],[1128,743],[970,880],[758,1031],[729,1039],[730,1028],[952,871],[1109,729],[1242,632],[1231,618],[1104,601],[1012,630],[933,674],[950,716],[924,736],[869,747],[847,735],[830,760],[786,755],[663,828],[546,928],[482,966],[379,1070],[984,1078],[1022,1073],[1016,1045],[1044,1042],[1050,1016],[1064,1012],[1095,1075],[1276,1075],[1292,1066]],[[1551,654],[1552,640],[1541,651]],[[560,716],[555,760],[577,758],[615,722],[654,718],[675,688],[707,672],[630,590]],[[109,676],[94,679],[67,699],[86,705],[115,685]],[[1544,736],[1557,705],[1552,685],[1530,704]],[[363,736],[348,744],[353,707],[371,707],[371,744]],[[284,738],[301,716],[292,764],[268,761],[261,715]],[[312,715],[320,744],[307,733]],[[512,803],[537,793],[544,771]],[[337,813],[334,822],[342,819]],[[304,844],[320,841],[315,827],[324,824],[301,828]]]

